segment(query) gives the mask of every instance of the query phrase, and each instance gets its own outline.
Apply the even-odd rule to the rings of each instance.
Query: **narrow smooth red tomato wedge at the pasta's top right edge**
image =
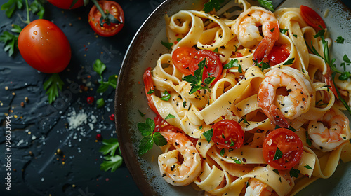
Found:
[[[322,17],[320,17],[317,12],[312,10],[312,8],[301,5],[300,12],[303,17],[303,20],[305,20],[305,22],[307,22],[308,25],[316,29],[320,29],[321,27],[319,26],[322,26],[323,29],[326,28],[326,24],[324,23]]]

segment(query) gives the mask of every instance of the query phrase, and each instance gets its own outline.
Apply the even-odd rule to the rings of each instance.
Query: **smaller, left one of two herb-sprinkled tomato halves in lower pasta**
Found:
[[[212,140],[218,148],[236,149],[244,143],[244,130],[234,120],[220,120],[212,129]]]

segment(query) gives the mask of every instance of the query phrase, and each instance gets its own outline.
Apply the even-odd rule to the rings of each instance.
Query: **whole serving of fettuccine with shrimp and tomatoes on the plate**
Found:
[[[332,41],[327,29],[315,38],[319,29],[299,8],[239,3],[235,20],[197,10],[165,16],[171,53],[144,74],[156,131],[168,141],[160,175],[206,195],[295,195],[351,160],[349,120],[322,59],[322,39]],[[273,132],[301,146],[284,146]]]

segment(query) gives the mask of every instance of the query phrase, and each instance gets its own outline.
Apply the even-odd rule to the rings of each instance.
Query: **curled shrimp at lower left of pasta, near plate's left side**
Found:
[[[201,158],[197,149],[184,134],[176,132],[161,132],[176,150],[159,155],[159,170],[162,177],[174,186],[186,186],[199,176]],[[178,160],[178,154],[183,155],[183,163]]]

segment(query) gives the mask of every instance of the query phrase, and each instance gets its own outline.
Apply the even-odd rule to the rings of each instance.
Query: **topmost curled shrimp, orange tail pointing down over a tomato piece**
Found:
[[[264,38],[260,36],[258,27],[262,26]],[[263,59],[272,50],[275,41],[279,38],[279,22],[274,14],[264,8],[252,6],[239,15],[232,31],[245,48],[258,45],[253,53],[253,59]]]

